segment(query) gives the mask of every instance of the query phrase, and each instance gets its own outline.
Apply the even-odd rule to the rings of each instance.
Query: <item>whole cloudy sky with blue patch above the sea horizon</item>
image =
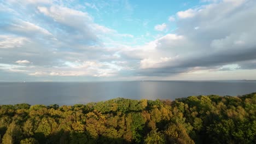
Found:
[[[256,80],[256,1],[0,0],[0,81]]]

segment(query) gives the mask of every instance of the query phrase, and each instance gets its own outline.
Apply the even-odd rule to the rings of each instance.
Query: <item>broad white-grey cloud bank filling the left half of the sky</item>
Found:
[[[30,3],[34,5],[27,5],[28,3],[30,2],[20,4],[24,4],[22,8],[33,10],[35,7],[36,13],[26,20],[14,12],[19,10],[25,13],[26,9],[13,9],[8,3],[3,3],[3,7],[12,10],[8,11],[8,15],[21,18],[10,17],[7,22],[1,22],[3,27],[0,29],[11,34],[0,36],[0,63],[7,64],[2,70],[30,76],[101,77],[113,76],[121,69],[111,62],[113,59],[117,60],[113,56],[113,50],[104,47],[99,39],[104,35],[123,38],[132,38],[133,35],[118,33],[99,25],[84,11],[60,4],[37,5],[38,2],[35,2]],[[40,18],[36,20],[37,24],[34,23],[36,18]],[[5,50],[9,48],[19,49]],[[109,57],[106,59],[102,55]],[[30,59],[33,63],[24,59]],[[67,62],[74,65],[67,65]],[[17,67],[16,64],[22,67]]]

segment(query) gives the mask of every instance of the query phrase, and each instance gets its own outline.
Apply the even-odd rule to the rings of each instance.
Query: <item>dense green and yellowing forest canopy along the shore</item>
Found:
[[[0,105],[0,143],[256,143],[256,93]]]

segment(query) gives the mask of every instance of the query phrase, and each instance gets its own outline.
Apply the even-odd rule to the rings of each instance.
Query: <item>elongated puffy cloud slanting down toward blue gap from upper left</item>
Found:
[[[88,4],[87,4],[88,5]],[[91,15],[84,11],[79,11],[58,5],[51,5],[51,7],[37,7],[40,13],[51,17],[56,23],[63,25],[65,32],[62,35],[71,33],[73,38],[83,40],[84,43],[100,44],[100,39],[113,40],[119,37],[132,38],[131,34],[120,34],[114,29],[99,25],[94,22]],[[110,37],[113,36],[112,38]],[[101,45],[101,44],[100,44]]]

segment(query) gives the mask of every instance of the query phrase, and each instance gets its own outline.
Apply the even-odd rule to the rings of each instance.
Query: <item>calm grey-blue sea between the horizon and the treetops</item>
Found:
[[[256,81],[1,82],[2,104],[85,104],[113,98],[171,99],[256,92]]]

